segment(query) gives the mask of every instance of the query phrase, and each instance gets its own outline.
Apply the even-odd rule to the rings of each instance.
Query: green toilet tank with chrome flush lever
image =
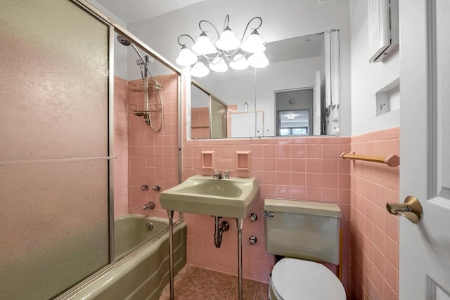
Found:
[[[267,253],[339,264],[337,204],[264,199],[264,210]]]

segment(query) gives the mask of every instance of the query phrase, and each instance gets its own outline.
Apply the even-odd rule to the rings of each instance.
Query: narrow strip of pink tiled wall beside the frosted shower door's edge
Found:
[[[114,77],[114,216],[128,212],[128,81]]]

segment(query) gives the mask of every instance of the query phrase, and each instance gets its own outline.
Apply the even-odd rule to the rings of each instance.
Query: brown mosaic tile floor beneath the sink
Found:
[[[244,300],[266,300],[269,286],[262,282],[243,279]],[[186,265],[174,278],[176,300],[236,300],[238,278],[233,275]],[[170,299],[170,287],[162,291],[160,300]]]

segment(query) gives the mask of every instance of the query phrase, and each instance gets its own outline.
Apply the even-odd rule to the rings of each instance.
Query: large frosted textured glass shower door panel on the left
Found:
[[[0,2],[0,297],[49,299],[110,262],[108,26]]]

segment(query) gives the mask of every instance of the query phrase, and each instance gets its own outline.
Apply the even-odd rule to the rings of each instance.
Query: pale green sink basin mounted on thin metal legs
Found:
[[[245,219],[259,195],[256,178],[195,175],[160,195],[163,209]]]

